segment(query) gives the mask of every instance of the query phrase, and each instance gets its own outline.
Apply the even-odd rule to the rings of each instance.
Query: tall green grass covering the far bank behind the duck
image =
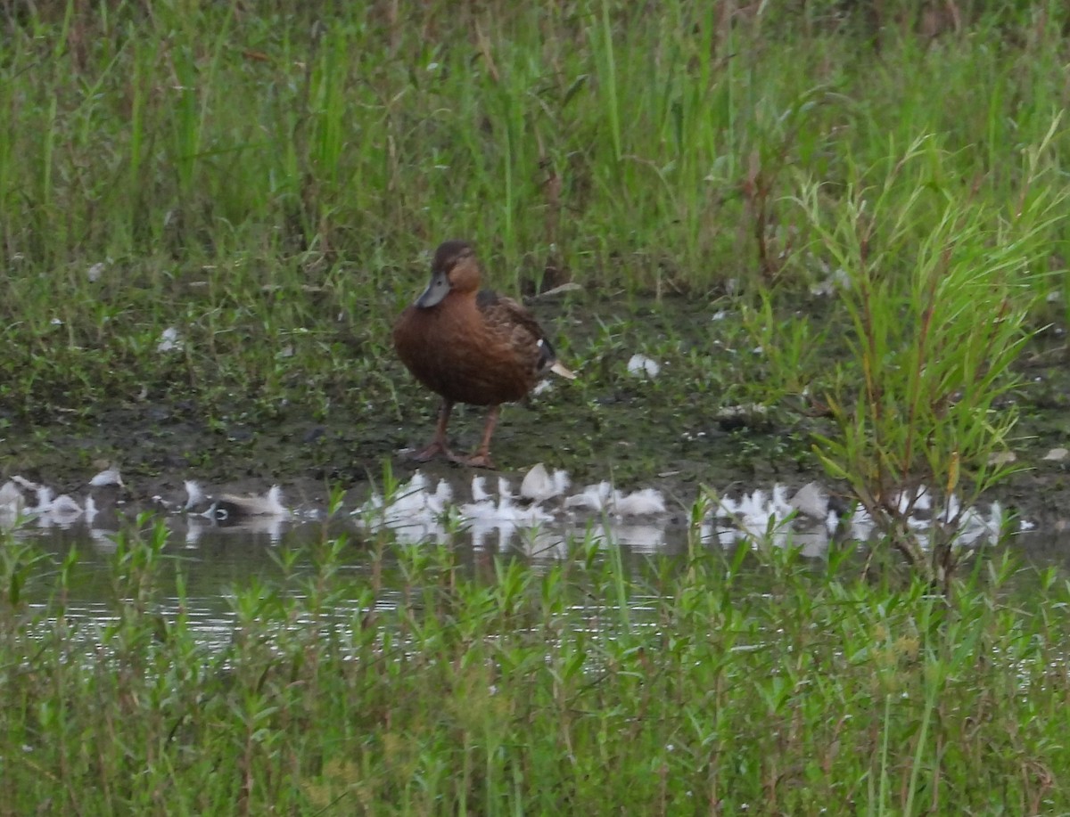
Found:
[[[1056,3],[977,4],[934,38],[910,13],[874,34],[822,3],[731,24],[611,0],[403,20],[389,4],[41,9],[10,12],[0,57],[0,397],[24,416],[105,395],[194,396],[216,416],[259,395],[265,419],[355,390],[396,403],[387,327],[444,237],[474,240],[511,292],[553,267],[607,297],[790,294],[831,261],[795,203],[813,185],[823,217],[846,218],[852,189],[931,137],[930,183],[997,214],[1021,200],[1024,153],[1046,142],[1061,186],[1068,150],[1061,126],[1049,138]],[[168,326],[187,345],[162,360]]]

